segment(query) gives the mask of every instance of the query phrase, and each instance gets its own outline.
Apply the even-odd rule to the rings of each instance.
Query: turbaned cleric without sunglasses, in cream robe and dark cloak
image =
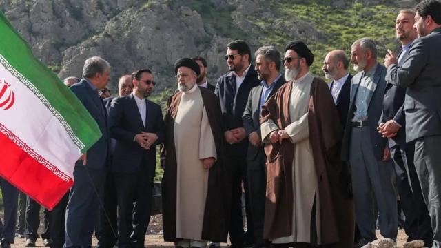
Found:
[[[179,59],[175,72],[179,92],[168,102],[162,154],[164,240],[176,247],[205,247],[207,240],[227,240],[220,106],[213,92],[196,85],[195,61]]]

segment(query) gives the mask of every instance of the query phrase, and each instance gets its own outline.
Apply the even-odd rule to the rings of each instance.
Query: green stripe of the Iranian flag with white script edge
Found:
[[[43,99],[48,101],[47,107],[63,124],[74,143],[82,152],[87,151],[102,135],[94,118],[58,76],[34,57],[28,43],[12,28],[1,11],[0,34],[0,63],[12,65],[13,68],[8,70],[17,70],[24,76],[21,78],[23,84],[34,94],[38,91],[43,95],[39,97],[42,103]]]

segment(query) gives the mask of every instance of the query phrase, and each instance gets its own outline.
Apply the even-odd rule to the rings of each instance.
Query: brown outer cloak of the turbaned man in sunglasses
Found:
[[[285,83],[262,106],[261,124],[272,120],[280,129],[285,129],[296,121],[289,118],[291,88],[292,82]],[[353,203],[347,195],[349,169],[340,161],[342,128],[329,88],[318,78],[311,83],[307,118],[320,197],[320,243],[352,247],[355,220]],[[296,225],[293,223],[292,186],[294,145],[289,139],[284,139],[282,144],[265,145],[267,200],[263,236],[270,240],[290,236],[293,225]]]

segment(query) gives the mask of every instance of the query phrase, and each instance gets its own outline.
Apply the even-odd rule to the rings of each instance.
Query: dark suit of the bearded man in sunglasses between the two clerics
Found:
[[[223,131],[232,130],[237,127],[243,127],[242,116],[247,105],[249,92],[253,87],[260,85],[257,77],[257,72],[254,66],[250,65],[247,75],[243,83],[238,88],[236,93],[236,76],[233,72],[228,72],[220,76],[214,94],[218,96],[220,102],[220,110],[222,112]],[[225,142],[225,155],[227,165],[229,165],[231,180],[232,180],[232,206],[230,216],[229,236],[233,245],[242,247],[245,241],[243,232],[243,217],[242,217],[242,180],[245,185],[245,200],[247,206],[247,223],[250,227],[252,224],[251,211],[249,209],[248,187],[247,187],[247,149],[248,139],[244,138],[236,144],[228,144]],[[252,229],[247,231],[247,242],[254,242]]]

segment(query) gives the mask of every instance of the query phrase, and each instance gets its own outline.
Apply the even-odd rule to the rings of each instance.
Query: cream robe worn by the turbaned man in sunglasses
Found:
[[[316,223],[312,225],[316,225],[315,236],[320,244],[320,198],[308,128],[309,93],[313,79],[314,75],[307,73],[292,82],[289,99],[289,119],[292,123],[285,128],[285,131],[291,138],[291,142],[296,144],[293,151],[294,169],[292,170],[292,178],[294,178],[293,227],[291,236],[276,238],[272,240],[274,243],[311,242],[311,214],[314,200],[316,200]],[[262,137],[265,137],[264,142],[269,142],[269,134],[278,129],[279,127],[271,120],[262,123],[260,130]]]

